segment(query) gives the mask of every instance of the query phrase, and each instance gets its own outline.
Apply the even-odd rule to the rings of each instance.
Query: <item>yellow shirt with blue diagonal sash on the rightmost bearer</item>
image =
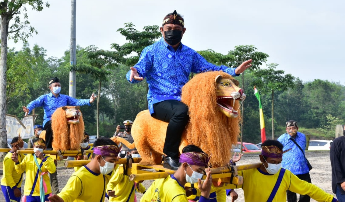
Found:
[[[280,170],[279,170],[280,172]],[[265,173],[260,169],[249,169],[239,171],[243,176],[243,184],[236,186],[233,184],[224,185],[223,189],[242,188],[245,201],[267,201],[279,176],[279,172],[274,175]],[[283,180],[280,183],[273,201],[286,201],[286,190],[290,190],[302,195],[309,195],[316,201],[332,201],[333,195],[326,193],[312,183],[300,180],[291,171],[285,170]]]

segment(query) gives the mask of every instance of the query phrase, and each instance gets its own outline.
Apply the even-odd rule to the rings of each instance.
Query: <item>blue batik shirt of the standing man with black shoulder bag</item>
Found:
[[[303,152],[290,139],[287,133],[282,134],[278,141],[284,145],[283,151],[291,148],[290,151],[283,154],[282,168],[291,171],[295,175],[306,174],[309,172],[308,164],[304,158],[304,149],[306,147],[306,138],[303,133],[297,132],[295,141],[303,149]]]

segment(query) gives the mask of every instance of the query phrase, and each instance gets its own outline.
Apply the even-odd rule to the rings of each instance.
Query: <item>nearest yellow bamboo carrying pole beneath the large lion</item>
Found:
[[[239,170],[249,170],[253,168],[259,168],[262,163],[251,163],[251,164],[244,164],[244,165],[236,165],[234,166],[237,171]],[[139,173],[139,174],[131,174],[129,176],[129,180],[131,181],[142,181],[142,180],[155,180],[159,178],[166,178],[170,174],[174,174],[176,171],[165,171],[165,172],[148,172],[148,173]],[[224,174],[224,176],[228,176],[230,170],[227,167],[220,167],[220,168],[211,168],[211,174],[216,175],[218,178],[221,177],[219,174]],[[204,176],[205,177],[205,176]]]

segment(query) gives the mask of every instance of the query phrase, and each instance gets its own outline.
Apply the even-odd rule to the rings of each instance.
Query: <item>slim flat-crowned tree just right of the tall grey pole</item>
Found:
[[[97,138],[99,137],[99,102],[101,96],[102,81],[107,81],[110,70],[117,67],[122,57],[115,51],[98,50],[95,46],[88,46],[85,49],[85,57],[78,61],[75,69],[76,72],[91,74],[91,77],[98,80],[98,99],[97,99]],[[72,67],[72,66],[71,66]]]

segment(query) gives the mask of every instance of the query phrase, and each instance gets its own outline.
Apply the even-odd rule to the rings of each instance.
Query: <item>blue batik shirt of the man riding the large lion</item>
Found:
[[[222,70],[232,76],[236,68],[225,65],[216,66],[206,61],[195,50],[180,43],[175,51],[161,38],[142,50],[139,61],[134,68],[140,77],[145,78],[149,86],[147,93],[148,108],[154,113],[153,104],[164,100],[181,101],[181,89],[188,82],[191,72],[201,73]],[[130,71],[126,74],[130,79]],[[135,79],[131,83],[138,83]]]

